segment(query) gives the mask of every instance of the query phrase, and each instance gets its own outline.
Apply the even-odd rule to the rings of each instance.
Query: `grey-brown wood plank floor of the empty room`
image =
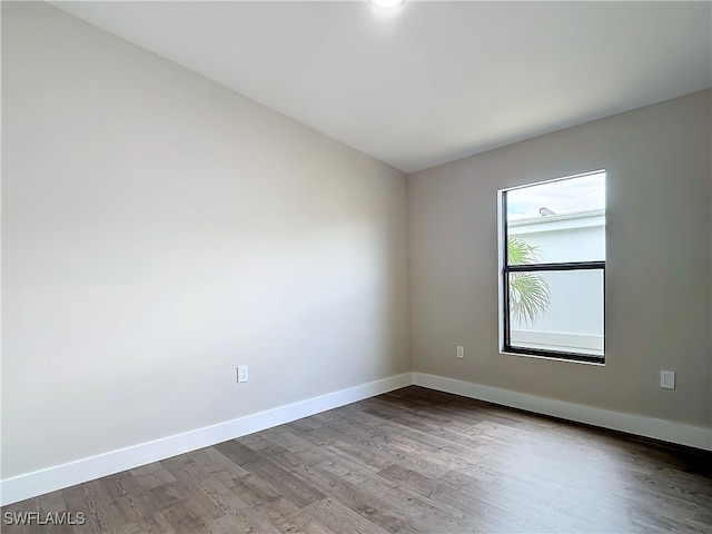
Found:
[[[712,454],[411,386],[16,503],[3,533],[710,533]]]

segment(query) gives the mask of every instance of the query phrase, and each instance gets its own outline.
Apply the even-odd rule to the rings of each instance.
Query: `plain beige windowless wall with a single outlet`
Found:
[[[2,113],[2,477],[411,369],[402,172],[47,4]]]

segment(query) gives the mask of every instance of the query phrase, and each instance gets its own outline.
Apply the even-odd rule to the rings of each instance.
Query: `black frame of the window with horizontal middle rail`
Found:
[[[586,362],[592,364],[605,364],[605,260],[596,261],[562,261],[562,263],[548,263],[548,264],[524,264],[524,265],[508,265],[507,256],[507,243],[508,243],[508,225],[507,225],[507,192],[515,189],[524,189],[551,181],[563,181],[574,178],[581,178],[584,176],[597,175],[605,172],[605,169],[595,170],[592,172],[583,172],[580,175],[567,176],[564,178],[556,178],[554,180],[538,181],[533,184],[524,184],[517,187],[511,187],[502,189],[500,191],[500,225],[501,236],[498,247],[501,251],[502,265],[501,273],[501,301],[502,301],[502,323],[501,323],[501,347],[500,350],[506,354],[538,356],[548,359],[564,359],[572,362]],[[607,177],[606,177],[607,178]],[[511,273],[542,273],[542,271],[568,271],[568,270],[602,270],[603,275],[603,355],[591,355],[582,353],[573,353],[565,350],[541,349],[531,347],[517,347],[511,343],[511,325],[510,325],[510,274]]]

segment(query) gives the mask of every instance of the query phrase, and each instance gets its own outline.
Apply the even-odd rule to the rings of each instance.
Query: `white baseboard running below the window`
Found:
[[[712,451],[712,429],[710,428],[683,425],[681,423],[643,417],[641,415],[611,412],[582,404],[555,400],[553,398],[538,397],[500,389],[497,387],[482,386],[424,373],[413,373],[413,384],[437,389],[438,392],[453,393],[478,400],[526,409],[537,414],[552,415],[554,417],[586,423],[603,428]]]

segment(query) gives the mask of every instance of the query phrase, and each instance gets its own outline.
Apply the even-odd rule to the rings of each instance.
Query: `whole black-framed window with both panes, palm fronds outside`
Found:
[[[501,352],[603,363],[605,171],[498,201]]]

